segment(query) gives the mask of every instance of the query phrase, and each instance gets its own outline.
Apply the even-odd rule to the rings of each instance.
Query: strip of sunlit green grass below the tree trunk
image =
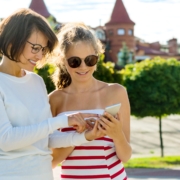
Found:
[[[133,158],[124,163],[125,168],[176,168],[180,156]]]

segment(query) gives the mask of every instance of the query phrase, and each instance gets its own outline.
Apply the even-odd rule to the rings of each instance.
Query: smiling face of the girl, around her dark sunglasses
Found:
[[[84,62],[84,59],[89,55],[96,55],[96,53],[92,45],[87,42],[75,43],[70,47],[70,49],[66,53],[64,64],[66,66],[68,73],[71,76],[72,81],[83,82],[88,81],[92,78],[92,75],[96,69],[96,65],[89,67]],[[67,59],[74,56],[79,57],[82,60],[80,66],[77,68],[71,68],[67,62]]]

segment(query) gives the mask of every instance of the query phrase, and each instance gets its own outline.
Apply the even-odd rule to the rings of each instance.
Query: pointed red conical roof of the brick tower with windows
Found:
[[[116,3],[114,5],[113,12],[111,14],[111,19],[106,23],[106,25],[109,24],[119,24],[119,23],[125,23],[125,24],[135,24],[130,18],[126,11],[126,8],[122,2],[122,0],[116,0]]]

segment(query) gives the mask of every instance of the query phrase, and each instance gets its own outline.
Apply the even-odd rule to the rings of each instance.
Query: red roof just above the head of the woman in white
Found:
[[[46,18],[51,15],[43,0],[32,0],[29,8]]]

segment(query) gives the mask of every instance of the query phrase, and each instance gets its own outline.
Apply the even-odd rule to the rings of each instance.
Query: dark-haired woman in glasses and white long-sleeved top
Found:
[[[45,84],[30,71],[58,40],[45,18],[20,9],[0,23],[0,180],[52,180],[49,147],[80,145],[96,137],[76,113],[52,118]],[[26,70],[24,70],[26,69]],[[56,129],[74,126],[79,133]]]

